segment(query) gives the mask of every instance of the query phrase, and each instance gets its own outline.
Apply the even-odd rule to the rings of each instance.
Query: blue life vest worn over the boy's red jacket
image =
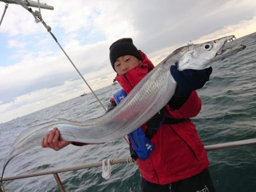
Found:
[[[121,89],[114,94],[114,99],[117,104],[119,104],[126,96],[127,94],[125,93],[125,90]],[[137,130],[129,133],[128,137],[133,145],[135,153],[141,160],[146,160],[150,156],[150,153],[154,150],[154,146],[146,137],[145,133],[142,131],[142,128],[139,127]]]

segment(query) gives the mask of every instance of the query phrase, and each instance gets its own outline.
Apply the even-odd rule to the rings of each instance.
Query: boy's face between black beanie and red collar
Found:
[[[141,64],[141,60],[133,55],[124,55],[118,57],[114,62],[114,68],[118,75],[127,73],[130,69]]]

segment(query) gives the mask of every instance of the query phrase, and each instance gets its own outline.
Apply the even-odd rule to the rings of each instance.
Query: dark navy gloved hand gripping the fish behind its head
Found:
[[[172,77],[177,82],[174,94],[174,97],[177,98],[187,98],[193,90],[202,88],[209,81],[212,73],[212,67],[202,70],[185,69],[180,72],[176,65],[172,65],[170,70]]]

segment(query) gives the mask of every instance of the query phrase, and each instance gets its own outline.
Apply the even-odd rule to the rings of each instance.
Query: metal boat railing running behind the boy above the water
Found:
[[[206,145],[205,150],[206,151],[213,151],[218,149],[226,149],[226,148],[235,148],[240,147],[242,145],[252,145],[256,144],[256,138],[254,139],[246,139],[246,140],[240,140],[240,141],[233,141],[228,143],[220,143],[220,144],[213,144],[213,145]],[[129,162],[127,161],[127,158],[120,158],[112,160],[112,165],[114,164],[121,164]],[[28,174],[22,174],[19,176],[12,176],[12,177],[3,177],[2,181],[10,181],[10,180],[18,180],[21,178],[28,178],[28,177],[37,177],[37,176],[44,176],[48,174],[53,174],[53,177],[55,178],[57,185],[59,186],[59,189],[61,192],[65,191],[63,184],[61,183],[61,180],[59,178],[58,173],[64,173],[64,172],[71,172],[74,170],[81,170],[81,169],[88,169],[88,168],[95,168],[102,166],[102,162],[96,162],[93,164],[86,164],[86,165],[80,165],[80,166],[72,166],[70,168],[63,168],[63,169],[55,169],[55,170],[48,170],[45,172],[37,172],[37,173],[28,173]],[[2,189],[0,188],[0,192],[2,192]]]

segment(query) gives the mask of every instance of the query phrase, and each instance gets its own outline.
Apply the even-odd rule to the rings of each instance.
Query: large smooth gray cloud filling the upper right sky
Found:
[[[243,2],[247,2],[244,7]],[[152,52],[195,40],[224,26],[252,19],[255,7],[253,1],[157,1],[136,6],[136,42],[146,52]]]

